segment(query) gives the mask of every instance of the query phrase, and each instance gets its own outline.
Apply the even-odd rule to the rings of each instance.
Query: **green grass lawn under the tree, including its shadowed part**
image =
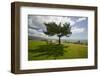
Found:
[[[88,47],[82,44],[47,44],[45,41],[28,41],[28,60],[87,58]]]

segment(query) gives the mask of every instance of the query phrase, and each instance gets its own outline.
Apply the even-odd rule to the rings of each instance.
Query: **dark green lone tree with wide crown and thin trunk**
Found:
[[[61,44],[61,37],[69,37],[72,34],[70,23],[66,22],[63,24],[63,26],[61,26],[61,22],[58,25],[55,22],[44,24],[47,29],[47,31],[44,33],[49,36],[57,35],[59,37],[59,45]]]

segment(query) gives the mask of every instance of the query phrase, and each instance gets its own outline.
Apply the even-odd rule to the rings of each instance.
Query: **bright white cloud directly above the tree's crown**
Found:
[[[36,17],[36,20],[41,24],[44,22],[56,22],[56,24],[59,24],[60,22],[62,24],[69,22],[71,26],[75,24],[75,21],[66,16],[33,16],[33,18],[34,17]]]

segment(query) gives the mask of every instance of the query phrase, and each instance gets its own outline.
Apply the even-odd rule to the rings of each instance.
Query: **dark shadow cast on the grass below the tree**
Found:
[[[67,48],[68,46],[66,46]],[[59,56],[64,55],[64,46],[63,45],[40,45],[34,50],[29,50],[31,53],[37,53],[33,55],[34,57],[41,57],[41,56],[47,56],[47,57],[54,57],[56,59]]]

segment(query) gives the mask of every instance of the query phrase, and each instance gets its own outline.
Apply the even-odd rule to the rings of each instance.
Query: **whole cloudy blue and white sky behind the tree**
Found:
[[[69,22],[72,27],[72,35],[64,36],[62,39],[87,40],[88,38],[88,18],[77,16],[28,15],[28,36],[58,39],[56,35],[50,37],[43,33],[46,31],[44,22],[56,22],[56,24]]]

